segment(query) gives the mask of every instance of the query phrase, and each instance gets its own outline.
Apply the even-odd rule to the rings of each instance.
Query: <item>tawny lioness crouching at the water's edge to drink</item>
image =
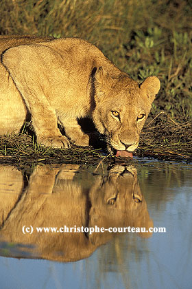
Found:
[[[87,116],[109,147],[138,147],[160,89],[156,76],[139,85],[83,39],[1,36],[0,50],[1,134],[19,132],[29,112],[38,143],[67,148],[70,139],[87,146],[89,136],[77,123]]]

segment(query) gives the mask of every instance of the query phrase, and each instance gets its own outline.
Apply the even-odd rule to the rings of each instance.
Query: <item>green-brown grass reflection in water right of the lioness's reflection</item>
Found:
[[[172,202],[178,188],[189,186],[191,166],[174,162],[153,162],[136,165],[141,191],[147,205],[152,204],[158,210],[165,208],[166,202]],[[154,189],[155,184],[155,189]]]

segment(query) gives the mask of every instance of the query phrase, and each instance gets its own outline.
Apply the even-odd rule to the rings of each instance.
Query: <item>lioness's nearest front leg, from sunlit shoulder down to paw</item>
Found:
[[[41,50],[45,56],[48,48],[22,45],[13,47],[3,54],[3,65],[12,79],[32,116],[37,142],[46,147],[67,148],[69,140],[58,129],[56,110],[51,106],[49,96],[49,71],[39,59]],[[48,55],[49,56],[49,55]],[[48,57],[47,56],[47,57]]]

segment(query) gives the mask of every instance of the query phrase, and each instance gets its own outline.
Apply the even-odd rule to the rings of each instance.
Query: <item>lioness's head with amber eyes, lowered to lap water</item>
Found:
[[[156,76],[139,85],[127,74],[112,76],[99,67],[95,73],[95,111],[93,121],[117,151],[134,151],[139,135],[160,89]]]

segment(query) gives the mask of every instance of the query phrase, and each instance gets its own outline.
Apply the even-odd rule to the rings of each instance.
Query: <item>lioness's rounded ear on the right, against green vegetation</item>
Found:
[[[141,83],[140,89],[147,93],[147,96],[153,101],[160,89],[160,81],[156,76],[149,76]]]

